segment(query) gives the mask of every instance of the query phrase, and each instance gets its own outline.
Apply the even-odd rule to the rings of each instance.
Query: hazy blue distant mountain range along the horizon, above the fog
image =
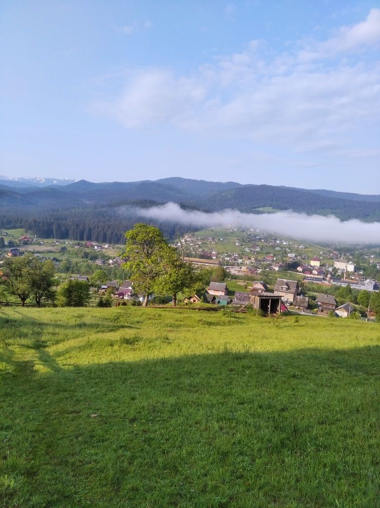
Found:
[[[55,178],[0,180],[0,207],[115,207],[141,200],[154,203],[173,201],[205,211],[233,208],[260,213],[258,208],[272,207],[307,214],[334,214],[341,219],[380,220],[380,195],[326,189],[243,185],[232,181],[210,182],[180,177],[102,183]]]

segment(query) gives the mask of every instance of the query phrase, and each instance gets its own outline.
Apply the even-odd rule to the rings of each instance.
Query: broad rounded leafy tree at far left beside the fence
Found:
[[[40,261],[27,252],[24,256],[6,259],[2,270],[9,293],[17,296],[23,307],[31,296],[39,306],[44,298],[53,298],[54,265],[50,261]]]

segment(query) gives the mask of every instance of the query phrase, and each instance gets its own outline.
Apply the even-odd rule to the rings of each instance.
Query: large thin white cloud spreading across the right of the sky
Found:
[[[380,116],[380,58],[350,63],[333,56],[380,41],[380,9],[323,42],[296,42],[275,55],[265,41],[220,57],[194,74],[131,72],[123,92],[98,103],[128,128],[165,122],[203,135],[228,135],[295,151],[352,148],[352,137]],[[371,148],[368,148],[371,150]]]

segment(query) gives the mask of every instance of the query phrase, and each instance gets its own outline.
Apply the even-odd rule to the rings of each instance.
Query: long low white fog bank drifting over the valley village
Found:
[[[380,223],[363,223],[352,219],[342,221],[330,215],[306,215],[292,211],[278,213],[242,213],[223,210],[213,213],[182,210],[176,203],[166,203],[152,208],[138,208],[139,215],[159,221],[176,221],[197,227],[240,225],[277,235],[319,242],[347,244],[378,243]]]

